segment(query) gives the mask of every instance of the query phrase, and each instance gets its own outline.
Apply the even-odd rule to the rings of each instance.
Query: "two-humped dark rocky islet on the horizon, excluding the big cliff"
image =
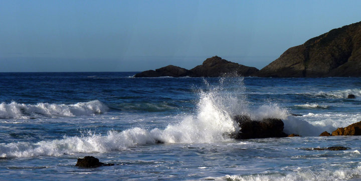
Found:
[[[231,73],[236,76],[249,76],[258,71],[255,67],[245,66],[222,59],[219,56],[207,58],[203,64],[191,70],[179,66],[168,65],[155,70],[147,70],[134,75],[134,77],[158,77],[158,76],[192,76],[192,77],[217,77]]]

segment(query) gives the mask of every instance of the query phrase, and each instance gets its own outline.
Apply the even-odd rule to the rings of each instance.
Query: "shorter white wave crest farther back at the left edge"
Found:
[[[77,116],[103,113],[108,107],[99,100],[75,104],[37,103],[24,104],[15,101],[0,104],[0,118],[15,118],[24,115],[42,114],[46,116]]]

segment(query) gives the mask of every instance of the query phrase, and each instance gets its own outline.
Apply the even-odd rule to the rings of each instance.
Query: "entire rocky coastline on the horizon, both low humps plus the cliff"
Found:
[[[217,77],[225,73],[260,77],[361,76],[360,68],[361,21],[332,29],[291,47],[261,70],[213,56],[190,70],[168,65],[137,73],[134,77]]]

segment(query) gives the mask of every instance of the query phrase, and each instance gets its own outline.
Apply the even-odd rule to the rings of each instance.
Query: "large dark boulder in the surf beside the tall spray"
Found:
[[[247,115],[235,116],[234,120],[239,124],[240,130],[232,133],[235,139],[286,137],[283,132],[284,123],[278,118],[266,118],[262,120],[251,120]]]

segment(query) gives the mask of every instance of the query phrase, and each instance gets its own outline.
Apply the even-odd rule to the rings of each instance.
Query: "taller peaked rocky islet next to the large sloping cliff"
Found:
[[[231,61],[222,59],[219,56],[213,56],[203,61],[190,70],[193,77],[217,77],[225,73],[236,73],[237,76],[249,76],[258,71],[255,67],[245,66]]]

